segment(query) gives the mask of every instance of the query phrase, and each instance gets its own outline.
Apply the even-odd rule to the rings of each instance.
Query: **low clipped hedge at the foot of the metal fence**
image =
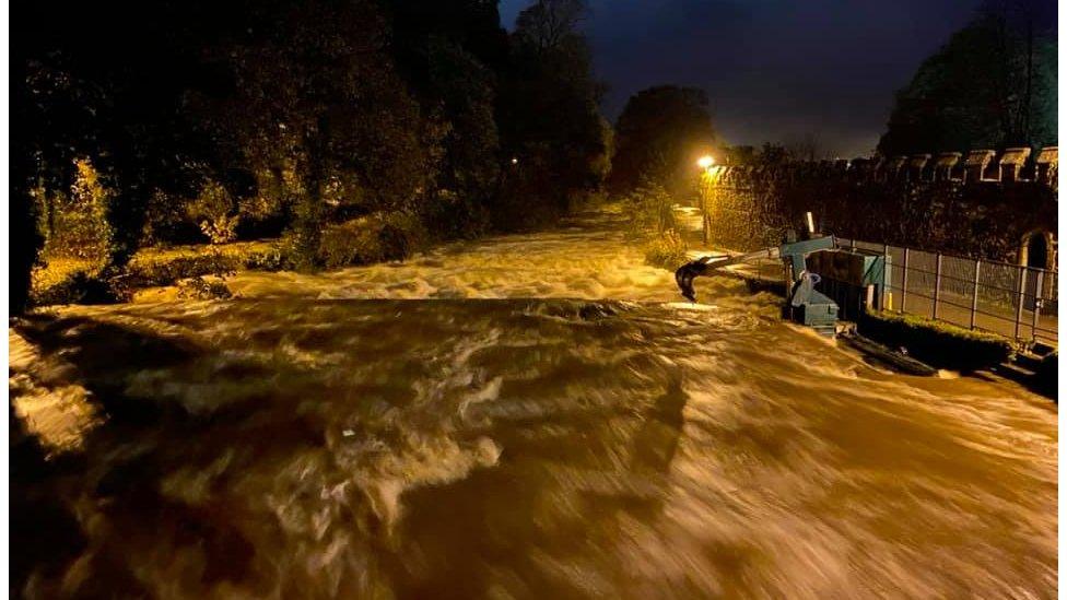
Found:
[[[914,315],[868,313],[859,318],[859,332],[933,366],[970,372],[1007,361],[1013,348],[1007,338],[963,329]]]

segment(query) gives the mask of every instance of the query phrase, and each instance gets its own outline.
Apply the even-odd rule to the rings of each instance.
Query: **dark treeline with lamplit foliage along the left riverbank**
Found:
[[[559,215],[608,168],[584,13],[540,0],[508,34],[494,0],[12,7],[13,310],[42,248],[106,280],[146,245],[282,236],[312,269]]]

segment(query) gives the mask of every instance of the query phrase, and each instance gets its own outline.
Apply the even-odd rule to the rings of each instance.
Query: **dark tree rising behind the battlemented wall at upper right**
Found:
[[[1054,23],[1054,3],[984,3],[898,92],[879,152],[1056,143]]]

